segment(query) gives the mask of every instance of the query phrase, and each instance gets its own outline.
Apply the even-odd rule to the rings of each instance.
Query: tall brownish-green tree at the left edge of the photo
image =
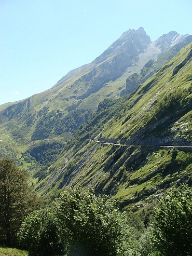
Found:
[[[6,245],[16,243],[25,215],[40,206],[28,179],[28,173],[15,161],[8,158],[0,160],[0,241]]]

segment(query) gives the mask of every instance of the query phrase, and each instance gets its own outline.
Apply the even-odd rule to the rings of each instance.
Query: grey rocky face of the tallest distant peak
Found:
[[[149,44],[150,37],[143,28],[123,33],[98,58],[88,64],[89,71],[75,81],[73,86],[79,88],[77,99],[89,97],[110,80],[114,81],[124,75],[130,66],[139,62],[139,56],[145,52]],[[63,77],[62,80],[64,81],[65,78]],[[84,89],[80,90],[83,87]]]

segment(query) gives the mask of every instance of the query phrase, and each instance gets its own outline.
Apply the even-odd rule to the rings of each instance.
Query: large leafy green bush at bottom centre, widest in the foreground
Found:
[[[71,255],[127,255],[130,242],[126,217],[106,195],[65,188],[54,202],[59,234]]]

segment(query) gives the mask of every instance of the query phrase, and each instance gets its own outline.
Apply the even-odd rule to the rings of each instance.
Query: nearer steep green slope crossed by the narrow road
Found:
[[[192,43],[130,95],[101,102],[35,184],[38,193],[49,200],[63,186],[91,186],[138,208],[191,185],[191,77]]]

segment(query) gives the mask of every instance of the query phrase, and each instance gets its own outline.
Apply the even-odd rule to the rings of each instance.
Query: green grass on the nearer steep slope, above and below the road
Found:
[[[121,208],[132,209],[138,207],[138,202],[148,204],[150,201],[157,200],[167,189],[178,182],[190,183],[192,154],[189,152],[166,151],[158,147],[156,149],[125,147],[123,149],[115,145],[101,144],[96,148],[95,142],[89,142],[83,146],[78,141],[87,131],[92,135],[95,128],[95,134],[97,132],[99,134],[100,127],[103,127],[101,140],[122,138],[128,140],[132,137],[133,142],[138,144],[147,136],[163,138],[171,132],[174,133],[173,138],[179,136],[177,132],[182,132],[183,139],[187,135],[190,136],[191,125],[187,123],[191,122],[191,111],[184,114],[183,112],[176,113],[178,110],[175,108],[175,119],[165,119],[166,122],[163,125],[160,123],[159,126],[157,126],[158,119],[152,120],[153,115],[156,114],[154,106],[159,99],[170,92],[174,93],[176,88],[181,90],[181,88],[189,87],[190,82],[185,80],[185,77],[188,77],[185,72],[191,73],[189,63],[185,66],[185,72],[181,70],[172,79],[170,77],[174,67],[185,59],[190,47],[186,47],[186,52],[182,50],[166,64],[166,69],[160,70],[132,95],[120,98],[109,107],[104,115],[99,118],[96,116],[83,126],[82,132],[79,130],[76,133],[76,141],[72,140],[71,144],[66,146],[66,150],[64,148],[56,163],[53,164],[56,169],[54,172],[50,171],[49,177],[40,183],[42,186],[37,191],[42,193],[44,198],[48,198],[54,193],[57,194],[59,191],[57,187],[62,191],[62,186],[66,184],[91,186],[96,193],[106,193],[112,196],[112,199],[119,202]],[[102,97],[101,93],[100,97]],[[162,119],[169,117],[170,113],[171,111],[167,111]],[[65,170],[65,159],[68,163],[71,161],[75,163],[71,171]],[[48,190],[47,184],[51,179],[54,179],[56,185]],[[36,187],[38,185],[36,184]]]

